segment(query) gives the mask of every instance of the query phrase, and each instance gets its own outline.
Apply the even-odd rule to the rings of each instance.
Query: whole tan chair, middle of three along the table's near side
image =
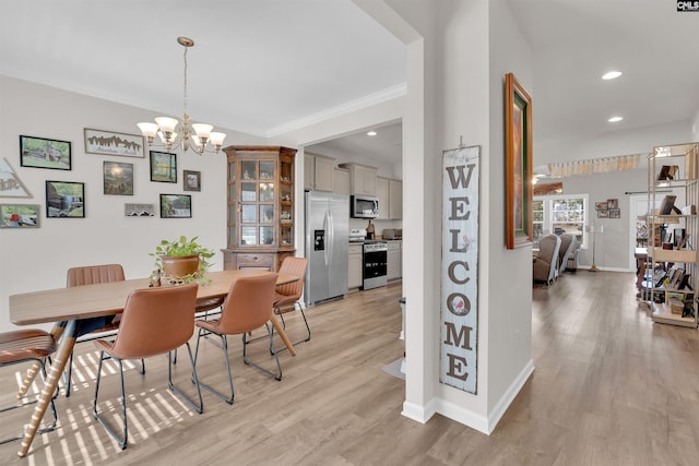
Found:
[[[199,358],[199,344],[201,338],[206,335],[217,335],[221,344],[210,339],[212,344],[223,349],[226,371],[228,373],[228,387],[230,395],[225,395],[210,385],[200,382],[201,386],[206,391],[218,396],[229,405],[233,404],[235,392],[233,389],[233,377],[230,374],[230,361],[228,360],[228,339],[227,335],[242,335],[242,360],[246,365],[253,366],[262,372],[282,380],[282,366],[274,349],[274,339],[272,328],[268,324],[272,315],[272,303],[274,302],[274,287],[276,286],[277,274],[265,274],[258,276],[246,276],[234,280],[228,289],[228,295],[223,304],[223,310],[218,319],[209,321],[198,320],[196,326],[199,328],[197,334],[197,349],[194,350],[194,366]],[[270,350],[276,361],[279,373],[274,373],[263,367],[251,362],[246,356],[246,347],[248,344],[247,333],[265,326],[270,338]]]

